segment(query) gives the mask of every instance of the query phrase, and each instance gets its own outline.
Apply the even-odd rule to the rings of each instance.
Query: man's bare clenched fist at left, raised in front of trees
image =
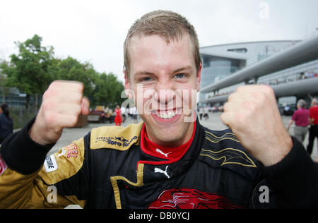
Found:
[[[88,115],[89,100],[83,97],[83,83],[56,80],[42,97],[42,104],[29,135],[36,143],[56,143],[63,128],[73,127],[80,114]]]

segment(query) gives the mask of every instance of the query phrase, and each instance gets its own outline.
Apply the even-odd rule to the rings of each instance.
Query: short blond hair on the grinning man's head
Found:
[[[180,40],[184,33],[189,34],[193,44],[193,55],[196,69],[199,71],[201,57],[199,53],[199,40],[194,30],[186,18],[172,11],[152,11],[142,16],[131,26],[124,42],[124,71],[126,77],[130,76],[130,54],[129,46],[132,37],[136,35],[160,35],[165,37],[167,44],[170,40]]]

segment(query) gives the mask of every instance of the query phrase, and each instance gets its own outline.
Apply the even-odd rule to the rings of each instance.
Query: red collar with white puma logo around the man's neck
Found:
[[[161,159],[167,159],[167,162],[147,162],[147,161],[140,161],[141,163],[148,163],[148,164],[168,164],[172,162],[176,162],[177,160],[181,159],[183,155],[187,152],[190,145],[192,144],[194,133],[196,130],[196,121],[194,121],[194,130],[192,133],[192,138],[187,143],[180,145],[178,147],[163,147],[153,143],[151,140],[148,139],[146,133],[146,126],[143,124],[143,128],[141,129],[141,150],[148,155],[153,157],[158,157]]]

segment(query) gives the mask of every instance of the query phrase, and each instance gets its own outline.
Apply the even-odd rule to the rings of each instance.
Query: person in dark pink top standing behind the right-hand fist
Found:
[[[305,140],[305,136],[307,134],[310,120],[310,112],[306,109],[307,102],[305,100],[299,100],[297,103],[297,109],[294,111],[292,119],[290,120],[287,130],[289,131],[290,126],[295,121],[295,128],[294,128],[294,136],[297,138],[300,143],[303,143]]]

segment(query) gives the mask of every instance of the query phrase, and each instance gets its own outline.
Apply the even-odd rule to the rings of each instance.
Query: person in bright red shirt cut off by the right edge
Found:
[[[312,100],[312,107],[310,108],[310,137],[307,145],[307,152],[312,154],[312,147],[314,146],[314,138],[318,138],[318,98]],[[318,149],[318,148],[317,148]]]

